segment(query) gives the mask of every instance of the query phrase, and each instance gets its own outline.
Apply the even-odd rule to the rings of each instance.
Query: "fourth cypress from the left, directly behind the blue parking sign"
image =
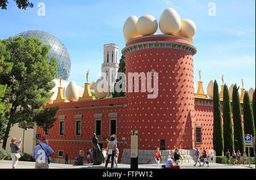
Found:
[[[247,91],[245,91],[245,95],[243,96],[243,130],[245,131],[245,135],[250,134],[255,136],[253,109],[251,108],[251,102]],[[253,156],[253,148],[250,149],[250,155]]]

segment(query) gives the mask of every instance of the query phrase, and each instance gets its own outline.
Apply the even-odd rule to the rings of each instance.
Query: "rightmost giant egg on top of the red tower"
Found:
[[[193,38],[196,33],[196,24],[190,19],[181,20],[180,31],[176,34],[177,36],[183,36],[186,38]]]

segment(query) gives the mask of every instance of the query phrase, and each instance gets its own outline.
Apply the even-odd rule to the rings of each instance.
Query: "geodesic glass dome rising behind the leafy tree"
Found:
[[[55,36],[42,31],[26,31],[19,33],[16,36],[22,36],[23,38],[36,37],[42,41],[42,45],[48,44],[51,46],[49,56],[51,58],[51,56],[54,55],[58,61],[56,78],[60,78],[60,76],[62,76],[62,79],[68,80],[71,69],[71,60],[67,48],[65,48],[60,40]]]

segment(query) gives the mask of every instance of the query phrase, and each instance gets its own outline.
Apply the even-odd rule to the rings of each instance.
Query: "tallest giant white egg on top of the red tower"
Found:
[[[181,20],[179,14],[173,8],[163,11],[159,19],[159,29],[163,35],[175,35],[180,31]]]

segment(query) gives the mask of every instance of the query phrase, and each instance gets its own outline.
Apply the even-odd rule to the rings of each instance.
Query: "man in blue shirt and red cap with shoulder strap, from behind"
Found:
[[[54,154],[49,145],[46,144],[46,137],[42,136],[40,143],[35,146],[32,157],[36,160],[35,169],[49,169],[49,156]]]

